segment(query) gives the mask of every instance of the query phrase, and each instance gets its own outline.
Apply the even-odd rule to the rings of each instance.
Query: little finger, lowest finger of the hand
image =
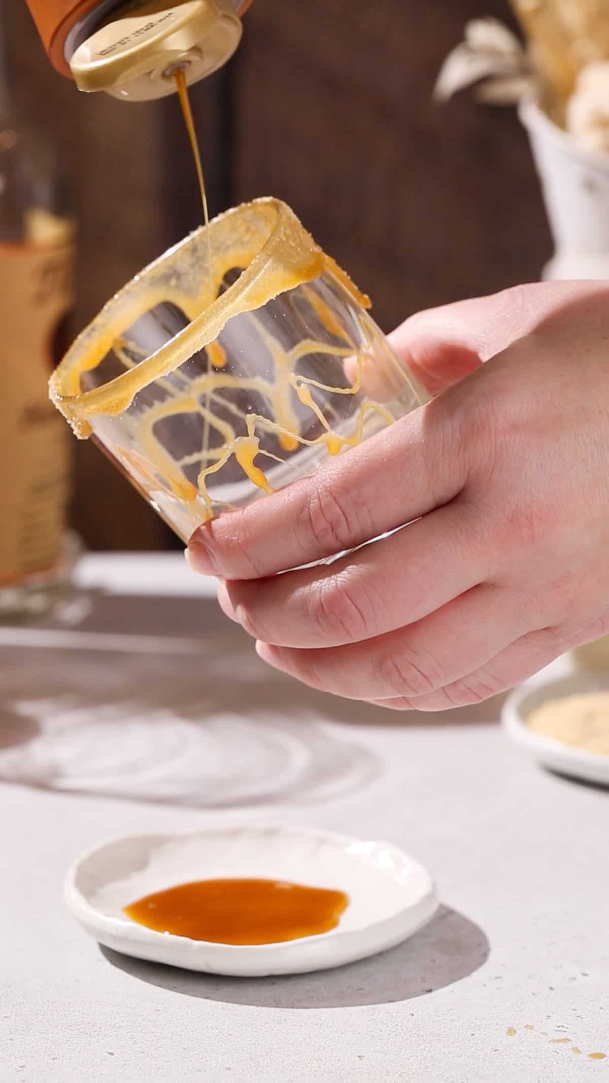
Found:
[[[390,710],[451,710],[482,703],[532,677],[568,650],[570,641],[556,628],[544,628],[521,636],[505,650],[443,688],[422,695],[374,700]]]

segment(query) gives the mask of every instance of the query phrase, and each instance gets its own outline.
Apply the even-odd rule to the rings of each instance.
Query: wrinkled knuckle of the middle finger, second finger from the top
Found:
[[[375,634],[378,606],[347,574],[319,579],[307,592],[306,616],[320,638],[358,642]]]

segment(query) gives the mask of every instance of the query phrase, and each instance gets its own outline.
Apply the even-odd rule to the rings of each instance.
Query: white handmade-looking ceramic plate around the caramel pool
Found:
[[[349,904],[330,932],[253,947],[155,932],[122,913],[154,891],[230,876],[334,888],[349,896]],[[117,839],[72,865],[64,897],[74,917],[106,948],[241,977],[306,974],[366,958],[411,937],[438,906],[429,874],[390,843],[260,824]]]

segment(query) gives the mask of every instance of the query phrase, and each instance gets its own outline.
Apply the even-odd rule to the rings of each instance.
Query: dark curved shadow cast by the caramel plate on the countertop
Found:
[[[437,992],[479,969],[490,953],[479,926],[440,906],[424,929],[397,948],[314,974],[225,978],[131,958],[100,949],[112,966],[183,996],[260,1008],[347,1008],[395,1004]]]

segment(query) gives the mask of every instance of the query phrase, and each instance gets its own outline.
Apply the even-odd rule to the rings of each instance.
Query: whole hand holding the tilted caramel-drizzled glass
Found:
[[[200,527],[189,559],[226,580],[224,612],[272,665],[437,710],[609,630],[609,286],[518,287],[418,315],[393,341],[438,396]]]

